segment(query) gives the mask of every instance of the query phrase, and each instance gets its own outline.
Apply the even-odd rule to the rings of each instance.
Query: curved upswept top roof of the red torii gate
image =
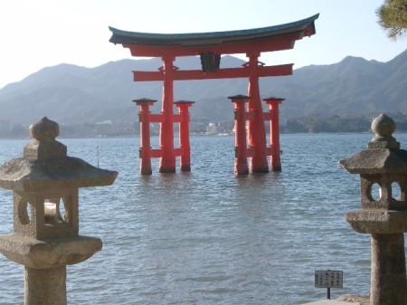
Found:
[[[213,33],[139,33],[109,27],[110,43],[121,43],[133,56],[194,56],[200,52],[217,54],[288,50],[303,36],[316,33],[319,14],[289,24]]]

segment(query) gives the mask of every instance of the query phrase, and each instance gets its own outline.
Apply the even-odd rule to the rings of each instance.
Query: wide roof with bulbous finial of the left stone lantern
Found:
[[[24,157],[0,166],[0,187],[14,191],[109,186],[118,172],[99,169],[77,157],[68,157],[67,148],[55,140],[56,122],[40,119],[30,126],[33,142],[24,147]]]

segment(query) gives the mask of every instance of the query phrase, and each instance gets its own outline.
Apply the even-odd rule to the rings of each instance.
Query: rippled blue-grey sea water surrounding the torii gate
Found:
[[[68,266],[70,304],[300,304],[327,298],[316,270],[344,272],[344,294],[370,289],[370,236],[355,233],[359,178],[337,161],[372,134],[282,135],[282,172],[233,175],[233,137],[192,137],[192,172],[139,175],[139,138],[59,138],[68,154],[117,170],[113,186],[80,189],[80,234],[103,250]],[[402,148],[407,135],[396,134]],[[0,140],[0,164],[31,140]],[[158,138],[152,146],[157,148]],[[177,142],[177,141],[175,141]],[[0,189],[0,234],[13,233]],[[23,304],[24,267],[0,254],[0,304]]]

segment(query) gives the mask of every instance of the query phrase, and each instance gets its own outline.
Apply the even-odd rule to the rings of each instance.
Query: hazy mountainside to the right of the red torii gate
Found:
[[[385,63],[346,57],[304,67],[277,90],[290,101],[284,108],[289,114],[407,113],[407,51]]]

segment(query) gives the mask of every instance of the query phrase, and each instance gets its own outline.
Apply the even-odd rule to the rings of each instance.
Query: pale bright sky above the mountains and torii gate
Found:
[[[377,24],[383,0],[1,0],[0,88],[46,66],[85,67],[131,58],[109,43],[108,26],[148,33],[200,33],[286,24],[320,14],[317,34],[293,51],[263,53],[266,64],[340,62],[345,56],[387,62],[407,49]],[[244,55],[240,55],[244,58]],[[131,78],[131,75],[129,75]]]

